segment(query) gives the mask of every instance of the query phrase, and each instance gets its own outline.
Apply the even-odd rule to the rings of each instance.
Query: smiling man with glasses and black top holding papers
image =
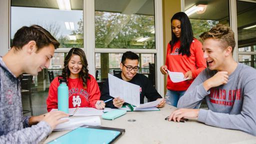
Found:
[[[114,76],[128,81],[130,83],[136,84],[140,86],[140,103],[144,103],[144,96],[149,101],[154,101],[158,98],[162,98],[161,95],[156,91],[153,87],[149,79],[140,73],[137,73],[138,66],[138,55],[131,51],[126,51],[122,55],[121,63],[120,63],[121,73],[115,74]],[[113,98],[109,95],[109,85],[108,81],[104,82],[102,85],[100,100],[107,100],[109,98]],[[148,102],[149,102],[148,101]],[[116,97],[113,99],[113,102],[106,102],[106,107],[118,108],[123,105],[125,101]],[[163,107],[165,100],[163,99],[157,107]]]

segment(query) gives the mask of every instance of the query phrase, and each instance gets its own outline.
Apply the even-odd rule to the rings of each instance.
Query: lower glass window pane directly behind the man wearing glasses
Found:
[[[147,53],[136,53],[139,55],[139,70],[138,73],[142,73],[149,78],[154,80],[155,69],[154,60],[155,54]],[[107,78],[107,73],[113,74],[113,70],[120,70],[122,53],[95,53],[95,72],[98,80]],[[151,81],[155,85],[155,81]]]

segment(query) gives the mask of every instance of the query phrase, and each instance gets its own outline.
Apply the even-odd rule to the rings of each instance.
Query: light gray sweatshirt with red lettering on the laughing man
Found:
[[[204,69],[178,100],[177,107],[194,108],[205,98],[208,110],[199,109],[198,121],[256,135],[256,69],[238,63],[227,84],[206,91],[202,83],[216,72]]]

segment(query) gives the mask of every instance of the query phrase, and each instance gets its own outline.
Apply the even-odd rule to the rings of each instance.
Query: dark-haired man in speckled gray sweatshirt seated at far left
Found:
[[[0,143],[38,143],[66,119],[64,112],[23,116],[20,75],[37,75],[59,42],[38,25],[23,26],[14,35],[11,49],[0,57]]]

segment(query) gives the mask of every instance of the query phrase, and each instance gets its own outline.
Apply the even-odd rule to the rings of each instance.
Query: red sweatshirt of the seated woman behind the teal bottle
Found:
[[[68,86],[68,107],[94,107],[100,97],[100,91],[95,78],[89,74],[87,87],[84,89],[82,80],[78,78],[67,78]],[[59,85],[58,77],[55,77],[49,87],[48,97],[46,99],[47,110],[58,108],[57,87]]]

